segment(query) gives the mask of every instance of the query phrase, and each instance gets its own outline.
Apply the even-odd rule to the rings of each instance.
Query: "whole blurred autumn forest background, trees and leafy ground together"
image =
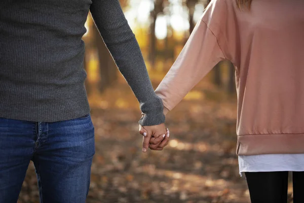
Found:
[[[180,53],[207,0],[121,0],[154,88]],[[88,203],[250,202],[236,156],[235,68],[222,61],[169,112],[170,143],[141,152],[138,101],[88,15],[86,88],[95,125]],[[203,65],[203,64],[202,64]],[[18,203],[39,202],[31,163]],[[292,187],[289,200],[292,202]]]

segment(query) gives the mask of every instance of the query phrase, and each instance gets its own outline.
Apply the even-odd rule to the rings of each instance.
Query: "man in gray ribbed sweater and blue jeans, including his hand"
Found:
[[[83,69],[89,11],[140,103],[145,140],[155,134],[154,149],[164,140],[162,100],[118,0],[2,0],[0,202],[17,201],[30,160],[41,202],[85,202],[95,153]]]

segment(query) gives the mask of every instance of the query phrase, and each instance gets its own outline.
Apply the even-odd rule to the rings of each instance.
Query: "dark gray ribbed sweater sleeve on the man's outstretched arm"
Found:
[[[162,99],[154,92],[139,45],[119,0],[92,0],[90,11],[119,71],[139,101],[140,110],[144,113],[139,124],[164,123]]]

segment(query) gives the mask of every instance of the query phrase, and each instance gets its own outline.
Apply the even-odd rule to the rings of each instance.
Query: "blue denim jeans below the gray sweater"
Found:
[[[94,154],[90,115],[50,123],[0,118],[0,202],[17,202],[32,160],[41,202],[85,203]]]

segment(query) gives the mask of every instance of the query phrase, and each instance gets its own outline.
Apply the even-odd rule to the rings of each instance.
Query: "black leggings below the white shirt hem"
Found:
[[[251,203],[286,203],[288,172],[245,172]],[[304,203],[304,172],[292,172],[293,203]]]

